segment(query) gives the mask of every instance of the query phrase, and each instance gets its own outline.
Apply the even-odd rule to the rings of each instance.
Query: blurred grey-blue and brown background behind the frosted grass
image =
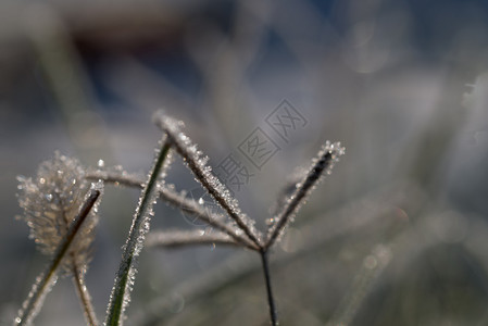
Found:
[[[143,175],[164,109],[214,168],[233,153],[254,174],[236,197],[263,229],[296,166],[346,146],[274,248],[281,325],[487,325],[487,22],[481,0],[2,0],[0,322],[48,262],[14,218],[15,177],[55,150]],[[306,120],[286,140],[266,124],[283,100]],[[280,148],[261,170],[238,150],[256,127]],[[198,193],[178,159],[168,180]],[[137,199],[105,189],[100,319]],[[152,230],[205,230],[187,217],[159,203]],[[268,325],[252,252],[146,250],[138,268],[128,325]],[[84,325],[70,279],[35,324]]]

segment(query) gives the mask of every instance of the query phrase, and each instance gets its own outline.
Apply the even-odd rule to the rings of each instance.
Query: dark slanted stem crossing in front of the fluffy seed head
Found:
[[[47,267],[47,272],[42,273],[41,276],[38,277],[38,281],[36,281],[33,286],[30,293],[28,294],[27,300],[23,304],[23,309],[20,312],[18,316],[14,321],[14,325],[28,325],[33,318],[37,315],[40,309],[40,304],[46,294],[46,291],[50,288],[50,285],[54,283],[54,278],[57,277],[57,269],[66,254],[70,246],[72,244],[76,234],[80,229],[83,223],[86,221],[86,217],[90,213],[91,208],[100,196],[100,191],[96,189],[91,189],[86,201],[84,202],[82,209],[79,210],[78,215],[71,223],[70,228],[66,231],[66,235],[62,239],[61,243],[58,246],[58,249],[54,253],[54,256]]]

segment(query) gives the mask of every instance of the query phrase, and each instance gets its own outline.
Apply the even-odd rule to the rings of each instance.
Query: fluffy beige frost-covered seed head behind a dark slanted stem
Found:
[[[90,188],[90,184],[85,180],[85,170],[77,160],[55,152],[52,160],[40,164],[34,179],[22,176],[17,179],[18,203],[24,210],[23,218],[30,228],[29,237],[42,253],[52,255],[77,216]],[[72,273],[73,265],[86,269],[97,222],[95,206],[63,260],[65,273]]]

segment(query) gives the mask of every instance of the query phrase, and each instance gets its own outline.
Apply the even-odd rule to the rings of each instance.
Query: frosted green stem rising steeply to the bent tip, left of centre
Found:
[[[134,215],[129,235],[127,237],[122,261],[115,277],[109,306],[107,309],[105,325],[122,325],[123,314],[129,301],[129,291],[134,284],[135,269],[134,261],[143,246],[143,237],[149,230],[149,218],[152,214],[152,206],[158,195],[158,179],[164,170],[164,162],[170,153],[171,143],[163,137],[162,148],[159,151],[154,165],[149,174],[139,204]]]

